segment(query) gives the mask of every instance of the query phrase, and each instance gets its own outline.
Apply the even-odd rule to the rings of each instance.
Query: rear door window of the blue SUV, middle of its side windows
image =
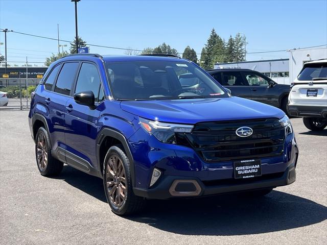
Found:
[[[55,92],[65,95],[69,95],[71,93],[78,64],[78,62],[69,62],[63,64],[57,79]]]

